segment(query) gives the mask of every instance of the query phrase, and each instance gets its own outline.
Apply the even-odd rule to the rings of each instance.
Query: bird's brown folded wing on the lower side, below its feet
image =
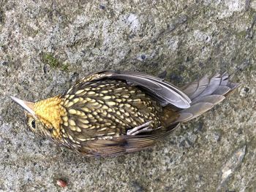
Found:
[[[123,135],[113,139],[97,139],[86,142],[86,145],[79,149],[79,153],[94,157],[108,157],[143,150],[166,137],[177,126],[179,126],[179,123],[173,124],[162,131],[157,130],[157,133],[152,131],[151,134]]]

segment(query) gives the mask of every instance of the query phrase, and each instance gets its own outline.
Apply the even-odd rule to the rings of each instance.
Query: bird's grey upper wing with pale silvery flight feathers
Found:
[[[174,85],[163,81],[161,78],[154,77],[149,74],[138,72],[102,71],[90,74],[82,80],[83,82],[89,82],[103,79],[125,80],[131,85],[137,85],[146,91],[148,95],[157,99],[162,106],[173,104],[181,109],[187,109],[190,107],[191,100],[185,93],[180,91]]]

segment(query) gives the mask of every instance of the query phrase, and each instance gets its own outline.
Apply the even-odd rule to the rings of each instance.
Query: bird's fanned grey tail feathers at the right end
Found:
[[[227,72],[212,77],[204,76],[196,82],[185,85],[181,90],[191,99],[191,107],[180,110],[176,122],[186,122],[210,110],[221,102],[240,84],[230,82]]]

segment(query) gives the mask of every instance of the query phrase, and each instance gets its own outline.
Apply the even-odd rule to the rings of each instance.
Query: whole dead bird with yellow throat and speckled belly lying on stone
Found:
[[[154,145],[238,85],[227,73],[176,88],[148,74],[104,71],[89,74],[49,99],[11,98],[26,110],[34,133],[83,155],[105,157]]]

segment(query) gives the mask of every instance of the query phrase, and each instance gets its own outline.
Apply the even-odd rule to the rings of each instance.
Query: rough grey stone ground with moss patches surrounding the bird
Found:
[[[255,19],[255,0],[0,0],[0,191],[255,191]],[[35,137],[9,98],[101,69],[166,70],[176,85],[227,70],[242,85],[157,146],[106,159]]]

